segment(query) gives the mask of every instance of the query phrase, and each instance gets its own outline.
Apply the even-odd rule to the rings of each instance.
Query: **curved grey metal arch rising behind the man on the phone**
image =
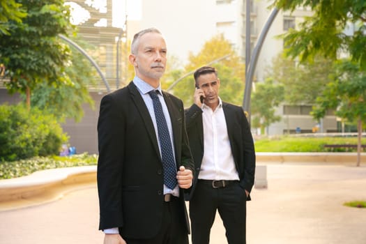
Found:
[[[250,6],[247,5],[247,8],[250,8]],[[270,13],[266,24],[264,25],[264,28],[261,31],[261,35],[259,36],[258,40],[257,40],[257,45],[255,45],[254,50],[253,50],[253,55],[250,57],[250,63],[249,63],[249,67],[245,67],[245,91],[244,91],[244,98],[243,98],[243,109],[244,111],[246,111],[247,114],[247,119],[248,121],[250,121],[250,96],[252,93],[252,81],[253,81],[253,76],[254,76],[254,70],[257,66],[257,61],[258,61],[258,56],[259,53],[261,52],[261,47],[264,43],[264,40],[266,39],[268,30],[270,29],[270,26],[273,23],[273,20],[275,20],[275,17],[277,16],[278,13],[278,9],[277,8],[273,8],[272,12]],[[248,24],[247,24],[248,27]],[[246,42],[245,45],[250,45],[250,42]],[[246,56],[246,54],[245,54]],[[246,60],[249,60],[247,58],[245,58]],[[245,65],[247,66],[247,63],[245,63]]]

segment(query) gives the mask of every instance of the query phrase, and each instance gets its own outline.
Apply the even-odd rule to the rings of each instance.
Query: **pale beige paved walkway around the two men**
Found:
[[[248,244],[365,244],[366,167],[267,165],[268,189],[254,189],[247,203]],[[102,243],[96,185],[49,204],[0,212],[1,244]],[[211,244],[227,243],[220,218]]]

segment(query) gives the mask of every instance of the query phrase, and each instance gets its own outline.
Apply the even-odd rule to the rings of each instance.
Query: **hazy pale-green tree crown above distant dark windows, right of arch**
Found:
[[[289,104],[314,104],[317,97],[330,82],[333,61],[318,56],[314,61],[294,62],[284,53],[273,59],[268,77],[284,85],[284,100]]]

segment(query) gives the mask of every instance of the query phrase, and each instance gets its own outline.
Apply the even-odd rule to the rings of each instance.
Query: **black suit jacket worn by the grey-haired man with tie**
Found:
[[[163,92],[174,134],[177,169],[194,171],[183,102]],[[163,175],[153,121],[133,82],[104,96],[98,119],[100,229],[119,227],[126,238],[151,238],[162,223]],[[183,228],[189,223],[180,190]]]

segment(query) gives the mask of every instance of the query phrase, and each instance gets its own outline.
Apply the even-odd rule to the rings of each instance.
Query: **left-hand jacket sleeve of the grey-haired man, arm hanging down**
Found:
[[[99,229],[123,226],[121,176],[125,120],[121,114],[121,108],[112,96],[102,98],[98,119]]]

